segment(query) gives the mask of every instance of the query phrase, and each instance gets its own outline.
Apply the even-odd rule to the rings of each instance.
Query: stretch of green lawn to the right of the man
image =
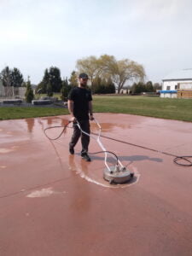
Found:
[[[192,122],[191,99],[165,99],[152,96],[94,96],[94,111],[131,113]]]

